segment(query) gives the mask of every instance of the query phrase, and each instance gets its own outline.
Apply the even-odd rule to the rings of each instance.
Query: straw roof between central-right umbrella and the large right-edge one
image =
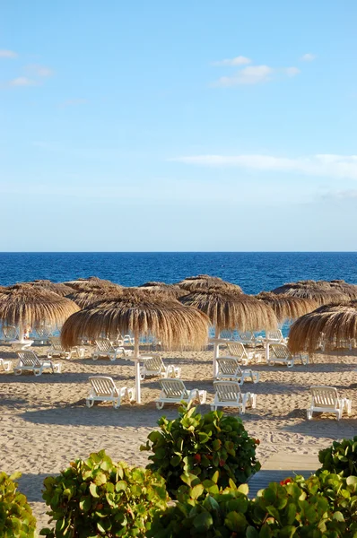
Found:
[[[275,294],[272,291],[261,291],[256,298],[273,308],[279,323],[297,319],[318,308],[318,302],[314,299],[303,299],[286,293]]]

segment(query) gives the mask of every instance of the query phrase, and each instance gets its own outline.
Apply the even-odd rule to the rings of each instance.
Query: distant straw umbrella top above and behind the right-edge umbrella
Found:
[[[283,284],[279,288],[275,288],[273,293],[284,293],[292,297],[300,297],[301,299],[313,299],[319,305],[344,302],[349,299],[341,289],[331,286],[330,282],[326,281],[290,282]]]

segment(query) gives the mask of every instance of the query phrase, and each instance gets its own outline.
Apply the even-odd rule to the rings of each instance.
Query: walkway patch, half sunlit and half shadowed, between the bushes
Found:
[[[308,478],[319,466],[317,454],[277,452],[270,456],[262,465],[262,469],[249,480],[248,497],[254,499],[257,492],[266,488],[270,482],[281,482],[294,474],[302,474]]]

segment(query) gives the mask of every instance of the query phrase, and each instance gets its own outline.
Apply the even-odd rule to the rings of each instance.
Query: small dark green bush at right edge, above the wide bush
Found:
[[[341,442],[334,441],[332,447],[319,451],[318,459],[322,464],[318,473],[327,470],[330,473],[343,473],[344,476],[357,476],[357,436]]]

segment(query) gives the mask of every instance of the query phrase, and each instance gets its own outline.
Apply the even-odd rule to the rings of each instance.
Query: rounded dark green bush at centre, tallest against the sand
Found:
[[[183,473],[196,474],[201,482],[219,470],[218,486],[230,479],[237,485],[247,482],[260,469],[256,458],[258,440],[250,438],[242,421],[222,412],[201,415],[196,408],[179,408],[179,418],[158,421],[161,431],[152,431],[141,450],[152,450],[147,468],[166,481],[171,497],[176,497]]]

